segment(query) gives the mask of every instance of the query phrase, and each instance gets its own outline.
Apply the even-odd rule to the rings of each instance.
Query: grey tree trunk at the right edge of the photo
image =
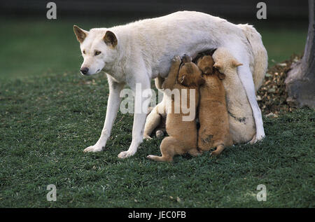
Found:
[[[292,65],[286,77],[286,101],[290,106],[315,108],[315,4],[309,0],[309,31],[302,60]]]

